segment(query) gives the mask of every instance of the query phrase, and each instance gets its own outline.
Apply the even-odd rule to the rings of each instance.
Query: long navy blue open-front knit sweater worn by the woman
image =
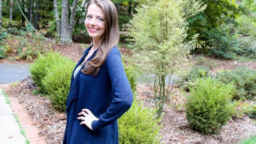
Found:
[[[82,63],[91,47],[85,50],[76,67]],[[91,60],[96,53],[97,50],[88,60]],[[113,47],[96,76],[85,75],[81,70],[75,78],[73,74],[67,98],[67,125],[63,143],[118,143],[117,118],[131,107],[133,101],[131,86],[121,61],[121,53],[117,47]],[[93,130],[86,125],[80,125],[81,120],[77,119],[78,113],[83,108],[90,109],[99,118],[98,121],[92,122]]]

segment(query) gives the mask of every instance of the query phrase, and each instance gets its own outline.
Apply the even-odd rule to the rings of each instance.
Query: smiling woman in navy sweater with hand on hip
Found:
[[[115,5],[110,0],[90,1],[85,27],[93,45],[71,77],[63,143],[118,143],[117,118],[131,107],[133,96],[116,47]]]

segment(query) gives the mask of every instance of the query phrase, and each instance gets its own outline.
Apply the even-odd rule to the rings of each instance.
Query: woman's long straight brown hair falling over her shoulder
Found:
[[[119,41],[119,27],[116,6],[110,0],[91,0],[87,5],[87,10],[91,4],[96,4],[103,10],[106,27],[97,53],[92,60],[85,62],[84,69],[82,69],[84,74],[95,76],[99,73],[100,66],[105,62],[111,48]],[[90,39],[93,42],[92,37]]]

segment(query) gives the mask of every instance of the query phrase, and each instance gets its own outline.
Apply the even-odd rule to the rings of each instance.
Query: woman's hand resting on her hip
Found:
[[[95,117],[89,109],[82,109],[82,112],[79,113],[78,115],[80,115],[80,117],[77,117],[77,119],[82,120],[80,125],[85,124],[91,130],[92,130],[92,122],[97,121],[99,119],[99,118]],[[83,116],[81,116],[81,115],[83,115]]]

